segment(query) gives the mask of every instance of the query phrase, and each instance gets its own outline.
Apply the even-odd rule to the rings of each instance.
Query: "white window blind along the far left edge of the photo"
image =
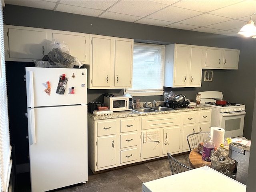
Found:
[[[6,71],[4,61],[4,22],[3,2],[0,1],[0,189],[1,192],[8,190],[10,172],[12,167],[11,146],[9,136],[8,107],[6,93]]]

